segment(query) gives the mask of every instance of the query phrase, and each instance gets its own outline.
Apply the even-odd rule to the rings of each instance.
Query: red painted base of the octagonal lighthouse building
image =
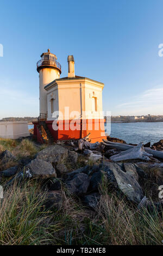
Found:
[[[59,121],[46,121],[46,125],[51,132],[54,141],[79,139],[83,138],[90,133],[89,138],[91,142],[102,142],[106,139],[104,119],[93,120],[59,120]],[[34,137],[38,142],[42,143],[42,138],[38,129],[38,122],[34,124]]]

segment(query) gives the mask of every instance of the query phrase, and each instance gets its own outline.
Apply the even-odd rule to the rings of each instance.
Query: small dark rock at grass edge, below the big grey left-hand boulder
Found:
[[[45,200],[45,207],[48,210],[60,209],[62,201],[63,197],[61,191],[50,191],[48,192],[47,199]]]

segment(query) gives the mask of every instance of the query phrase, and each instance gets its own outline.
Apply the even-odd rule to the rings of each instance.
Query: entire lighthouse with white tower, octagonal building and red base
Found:
[[[60,77],[61,65],[55,54],[41,54],[37,62],[40,88],[40,115],[34,124],[37,141],[51,142],[83,138],[91,142],[105,137],[102,108],[104,84],[75,74],[73,55],[67,57],[67,76]]]

